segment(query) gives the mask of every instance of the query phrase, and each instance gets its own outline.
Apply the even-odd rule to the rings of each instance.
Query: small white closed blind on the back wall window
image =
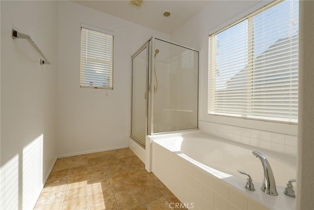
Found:
[[[112,89],[113,34],[81,27],[80,87]]]

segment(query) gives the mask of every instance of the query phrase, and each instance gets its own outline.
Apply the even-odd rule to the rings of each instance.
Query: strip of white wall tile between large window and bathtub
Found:
[[[296,157],[297,137],[281,133],[200,121],[202,132],[222,139]]]

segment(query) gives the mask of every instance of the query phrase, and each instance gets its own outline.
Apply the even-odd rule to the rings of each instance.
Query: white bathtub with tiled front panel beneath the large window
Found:
[[[294,157],[199,133],[151,138],[152,172],[189,209],[295,209],[295,199],[283,194],[288,180],[296,178]],[[262,192],[262,163],[252,150],[270,163],[278,196]],[[247,177],[237,170],[251,175],[254,192],[244,188]]]

